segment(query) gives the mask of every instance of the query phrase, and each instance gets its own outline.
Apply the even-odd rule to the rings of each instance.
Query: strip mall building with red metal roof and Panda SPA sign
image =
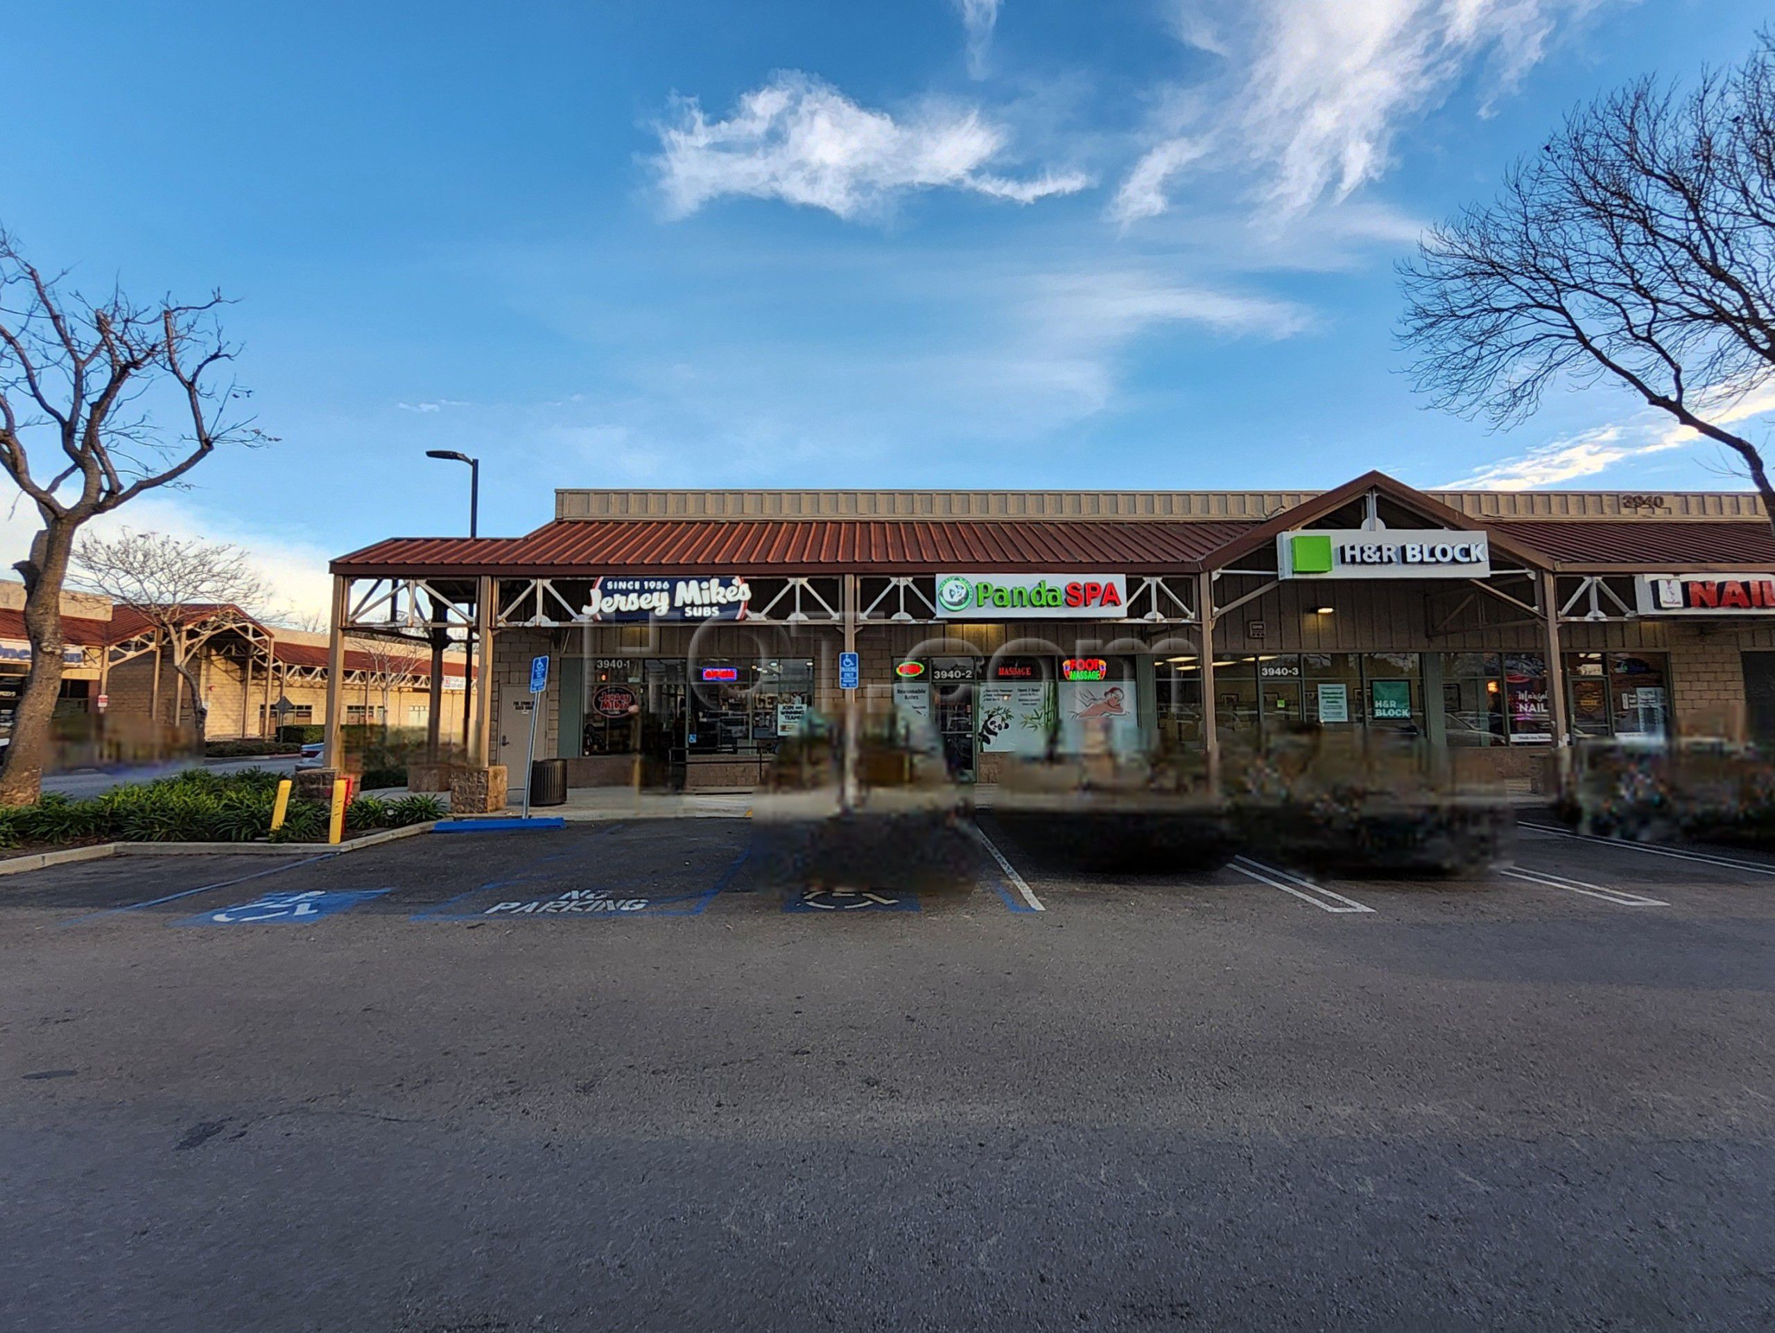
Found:
[[[746,790],[859,689],[951,772],[1319,724],[1484,749],[1775,738],[1775,540],[1750,493],[559,490],[520,538],[332,564],[344,634],[490,660],[470,761]]]

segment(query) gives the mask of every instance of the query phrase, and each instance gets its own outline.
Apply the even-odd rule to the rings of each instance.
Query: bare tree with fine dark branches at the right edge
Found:
[[[1503,193],[1400,268],[1400,341],[1438,406],[1496,426],[1548,385],[1613,382],[1731,449],[1775,376],[1775,37],[1679,92],[1645,78],[1573,112]]]

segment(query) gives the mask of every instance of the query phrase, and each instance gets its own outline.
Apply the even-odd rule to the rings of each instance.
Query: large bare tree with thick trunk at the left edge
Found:
[[[238,414],[213,295],[137,305],[64,291],[0,231],[0,469],[43,531],[16,568],[25,580],[30,674],[0,760],[0,806],[37,799],[62,683],[62,586],[75,538],[94,515],[178,485],[222,444],[270,437]],[[165,428],[162,415],[179,422]],[[36,456],[32,456],[36,451]]]

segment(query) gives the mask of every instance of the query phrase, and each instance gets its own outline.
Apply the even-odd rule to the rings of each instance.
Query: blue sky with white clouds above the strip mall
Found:
[[[300,605],[327,556],[462,527],[433,447],[485,460],[483,532],[556,485],[1727,488],[1617,392],[1503,435],[1427,410],[1392,266],[1574,101],[1764,18],[30,5],[0,222],[91,288],[238,298],[280,444],[131,520],[250,545]]]

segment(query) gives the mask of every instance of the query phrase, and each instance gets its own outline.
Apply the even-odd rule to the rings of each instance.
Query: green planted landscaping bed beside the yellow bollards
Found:
[[[119,786],[75,801],[48,793],[36,806],[0,806],[0,852],[46,852],[108,841],[133,843],[318,843],[327,841],[328,808],[291,799],[275,834],[272,809],[279,774],[204,769],[153,783]],[[444,816],[437,797],[357,797],[344,816],[346,834],[399,829]]]

